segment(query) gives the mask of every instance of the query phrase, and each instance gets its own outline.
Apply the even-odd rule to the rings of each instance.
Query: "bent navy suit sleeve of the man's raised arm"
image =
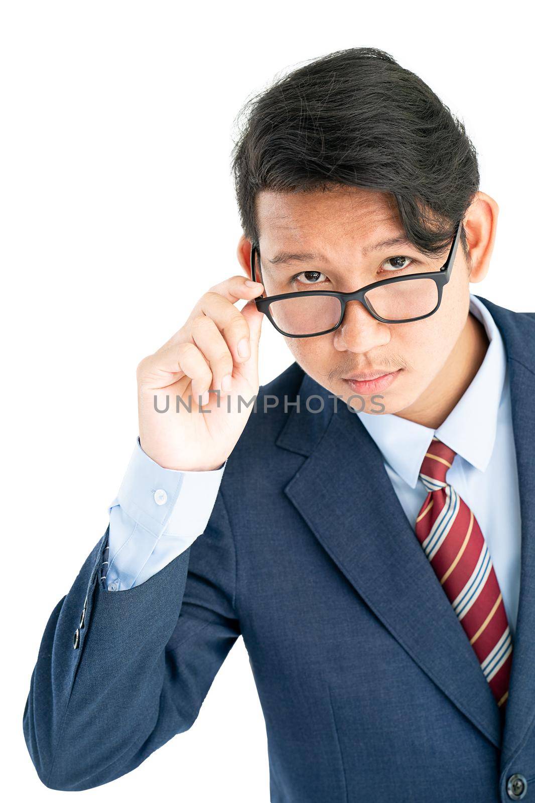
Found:
[[[106,784],[187,731],[240,634],[221,491],[194,543],[120,593],[99,581],[107,539],[52,611],[31,675],[23,732],[51,789]]]

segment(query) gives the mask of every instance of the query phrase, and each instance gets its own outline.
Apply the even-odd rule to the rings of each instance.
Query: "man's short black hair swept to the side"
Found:
[[[418,75],[374,47],[293,70],[247,100],[235,124],[231,172],[243,233],[255,245],[261,190],[345,185],[390,194],[410,243],[432,256],[448,247],[479,189],[463,122]],[[464,230],[461,245],[468,258]]]

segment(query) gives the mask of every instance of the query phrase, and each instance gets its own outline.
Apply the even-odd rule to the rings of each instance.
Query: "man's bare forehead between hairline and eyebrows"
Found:
[[[398,233],[397,206],[389,194],[343,187],[283,193],[263,190],[255,199],[260,252],[267,247],[359,243]]]

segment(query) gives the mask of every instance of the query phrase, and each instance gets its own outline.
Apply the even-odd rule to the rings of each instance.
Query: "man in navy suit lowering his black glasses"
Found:
[[[535,800],[535,317],[470,294],[498,214],[472,143],[350,49],[251,102],[233,168],[248,279],[138,365],[139,440],[31,679],[39,777],[136,768],[241,634],[272,801]],[[295,362],[259,389],[264,313]]]

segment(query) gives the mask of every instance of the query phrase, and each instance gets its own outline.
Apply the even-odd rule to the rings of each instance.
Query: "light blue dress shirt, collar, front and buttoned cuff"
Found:
[[[436,434],[455,450],[447,480],[480,524],[514,634],[521,517],[507,359],[490,312],[472,295],[470,312],[484,324],[487,353],[471,385],[437,430],[393,414],[357,415],[382,451],[386,472],[413,527],[427,495],[419,470],[431,438]],[[214,471],[162,468],[145,454],[137,438],[119,492],[108,507],[108,591],[140,585],[204,532],[226,465]]]

